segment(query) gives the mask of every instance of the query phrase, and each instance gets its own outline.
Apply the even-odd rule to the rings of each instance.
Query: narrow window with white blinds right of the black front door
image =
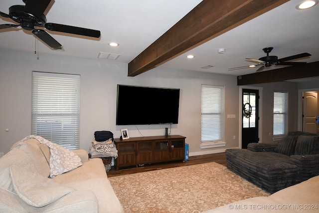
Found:
[[[274,92],[274,136],[287,133],[287,92]]]

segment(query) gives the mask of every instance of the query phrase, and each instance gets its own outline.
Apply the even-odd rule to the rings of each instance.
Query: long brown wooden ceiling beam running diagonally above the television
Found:
[[[153,69],[287,1],[203,0],[129,63],[128,76]]]

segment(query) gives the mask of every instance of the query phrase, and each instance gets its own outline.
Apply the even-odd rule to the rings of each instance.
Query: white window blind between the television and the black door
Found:
[[[201,87],[201,142],[222,140],[223,87]]]

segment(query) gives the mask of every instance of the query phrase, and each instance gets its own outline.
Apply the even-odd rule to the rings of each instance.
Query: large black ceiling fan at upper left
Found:
[[[58,23],[47,23],[43,14],[51,0],[23,0],[24,5],[12,5],[9,7],[9,14],[0,11],[0,16],[11,18],[19,24],[0,24],[0,30],[21,26],[23,29],[32,30],[32,33],[41,39],[44,43],[55,49],[61,49],[62,45],[56,41],[43,29],[37,27],[45,27],[51,31],[66,32],[76,35],[84,35],[98,38],[101,35],[99,30],[87,29],[76,26],[69,26]]]

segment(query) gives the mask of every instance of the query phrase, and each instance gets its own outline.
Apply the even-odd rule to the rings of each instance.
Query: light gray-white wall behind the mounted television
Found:
[[[88,150],[94,132],[109,130],[115,138],[127,128],[130,137],[164,135],[170,125],[116,126],[117,84],[172,87],[180,89],[178,124],[171,125],[171,135],[183,135],[189,152],[200,154],[214,149],[200,149],[201,84],[225,86],[226,148],[238,147],[238,86],[236,76],[155,68],[136,77],[128,77],[128,64],[105,59],[84,59],[32,52],[0,50],[0,152],[9,151],[13,143],[31,134],[32,71],[81,75],[80,148]],[[5,129],[9,129],[8,132]],[[236,140],[233,140],[233,136]]]

